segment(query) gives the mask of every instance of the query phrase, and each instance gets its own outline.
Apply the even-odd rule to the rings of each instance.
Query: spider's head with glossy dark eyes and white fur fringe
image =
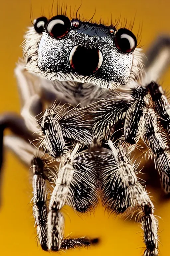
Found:
[[[136,38],[125,28],[57,15],[34,21],[26,33],[26,68],[43,78],[90,82],[105,88],[125,85],[142,73]]]

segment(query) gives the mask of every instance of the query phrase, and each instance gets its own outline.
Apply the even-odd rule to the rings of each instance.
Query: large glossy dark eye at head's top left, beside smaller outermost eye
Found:
[[[70,20],[63,15],[57,15],[50,19],[47,24],[47,32],[54,38],[62,38],[69,32],[71,26]]]

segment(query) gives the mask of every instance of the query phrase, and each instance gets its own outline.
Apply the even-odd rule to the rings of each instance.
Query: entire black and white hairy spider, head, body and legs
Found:
[[[114,24],[59,13],[28,28],[15,69],[21,115],[1,115],[0,163],[6,147],[32,166],[33,214],[43,250],[93,243],[64,237],[61,209],[67,204],[84,213],[101,196],[116,214],[139,209],[144,256],[158,256],[154,206],[130,152],[141,140],[147,144],[169,193],[170,104],[157,80],[169,65],[170,37],[159,37],[146,57],[135,35]],[[4,136],[5,128],[12,135]]]

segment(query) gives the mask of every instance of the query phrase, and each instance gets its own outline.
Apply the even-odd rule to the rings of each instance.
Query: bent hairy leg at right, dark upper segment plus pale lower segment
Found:
[[[124,136],[129,144],[136,144],[142,136],[154,155],[155,167],[161,175],[161,184],[165,192],[169,193],[170,151],[167,143],[165,143],[163,132],[160,133],[160,130],[158,130],[155,112],[150,108],[151,97],[153,97],[154,92],[152,91],[150,95],[149,90],[149,86],[148,88],[138,87],[133,89],[131,95],[136,98],[136,101],[127,111]],[[158,102],[163,109],[166,109],[164,117],[167,117],[168,108],[161,105],[160,101],[155,104],[158,105]]]

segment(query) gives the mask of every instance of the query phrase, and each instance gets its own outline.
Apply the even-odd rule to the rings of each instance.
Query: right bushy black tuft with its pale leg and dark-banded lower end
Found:
[[[136,168],[121,146],[117,149],[111,141],[111,153],[99,157],[99,182],[102,201],[107,210],[124,213],[135,206],[141,209],[141,224],[146,250],[144,256],[158,255],[158,222],[153,215],[154,206],[142,185],[137,181]]]

